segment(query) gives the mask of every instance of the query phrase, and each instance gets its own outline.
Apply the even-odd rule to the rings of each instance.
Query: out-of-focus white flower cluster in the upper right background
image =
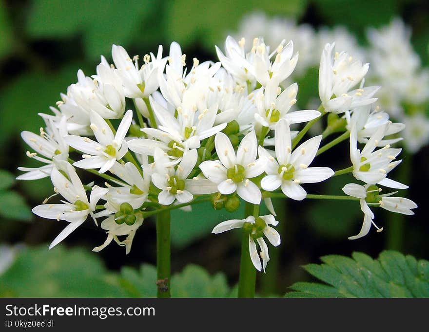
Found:
[[[422,67],[420,57],[410,42],[411,31],[400,18],[393,19],[389,25],[379,29],[367,29],[369,45],[365,48],[359,46],[356,38],[345,27],[321,27],[316,31],[308,24],[297,24],[288,18],[268,18],[262,13],[245,16],[236,36],[265,36],[270,44],[278,44],[284,38],[292,39],[294,48],[299,52],[299,62],[290,77],[292,80],[302,78],[308,70],[316,67],[320,53],[329,57],[331,50],[326,49],[326,44],[335,41],[336,48],[347,50],[353,59],[370,61],[370,68],[363,67],[350,76],[360,81],[368,72],[367,82],[381,86],[376,105],[407,125],[403,132],[403,144],[407,151],[416,153],[429,143],[429,118],[426,115],[429,103],[429,68]],[[341,62],[348,58],[350,56],[344,54],[336,59],[336,66],[340,67]],[[349,73],[344,74],[342,87],[352,83],[347,79]],[[333,101],[330,100],[329,93],[324,95],[322,102],[325,107],[326,104],[341,107],[341,104],[337,104],[345,101],[341,98],[344,93],[341,91],[342,87],[323,91],[335,94]],[[373,89],[368,92],[375,93]],[[370,98],[369,95],[365,97]],[[310,100],[309,105],[313,104],[314,101]]]

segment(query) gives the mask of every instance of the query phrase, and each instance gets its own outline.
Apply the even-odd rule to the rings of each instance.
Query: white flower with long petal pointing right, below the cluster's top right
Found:
[[[293,83],[280,94],[279,89],[275,82],[269,82],[265,89],[261,88],[256,92],[255,100],[258,112],[254,114],[254,117],[262,126],[274,129],[280,119],[286,119],[294,124],[307,122],[320,116],[320,112],[314,110],[289,112],[296,103],[298,84]]]

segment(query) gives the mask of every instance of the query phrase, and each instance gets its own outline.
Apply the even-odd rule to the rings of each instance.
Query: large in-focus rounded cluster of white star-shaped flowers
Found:
[[[416,207],[411,201],[374,194],[377,185],[406,188],[387,178],[400,163],[400,149],[390,144],[400,139],[385,138],[404,125],[375,108],[379,87],[364,86],[369,64],[326,44],[319,70],[321,106],[296,110],[298,85],[284,85],[298,62],[293,45],[283,40],[271,49],[261,37],[228,37],[223,51],[216,47],[219,62],[193,58],[190,68],[176,42],[167,56],[159,46],[157,55],[145,55],[142,64],[137,55],[113,45],[113,64],[102,56],[97,74],[79,70],[78,82],[61,94],[52,114],[40,114],[45,122],[40,134],[22,132],[34,150],[27,155],[43,165],[20,167],[25,173],[18,178],[50,177],[53,196],[62,197],[62,203],[50,203],[52,196],[33,209],[40,217],[68,222],[50,248],[91,216],[96,225],[102,219],[107,233],[94,251],[115,240],[128,253],[137,229],[151,215],[189,209],[201,200],[232,212],[242,200],[254,205],[254,213],[221,222],[213,232],[242,228],[255,268],[265,271],[270,258],[263,236],[280,244],[271,198],[304,200],[306,184],[344,173],[310,166],[333,146],[320,148],[327,132],[350,136],[348,171],[364,183],[344,188],[365,213],[357,237],[368,233],[374,218],[369,204],[410,214]],[[135,110],[126,110],[129,100]],[[301,142],[326,114],[324,133]],[[291,129],[301,124],[300,131]],[[358,144],[365,147],[359,150]],[[97,182],[82,184],[77,171],[98,176]],[[270,215],[259,216],[262,201]]]

